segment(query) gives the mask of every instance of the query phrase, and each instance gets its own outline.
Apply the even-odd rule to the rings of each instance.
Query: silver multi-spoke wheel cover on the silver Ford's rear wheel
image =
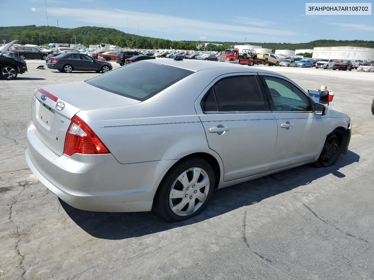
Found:
[[[205,202],[209,187],[209,176],[204,169],[192,167],[183,171],[170,189],[171,210],[178,216],[187,216],[196,212]]]

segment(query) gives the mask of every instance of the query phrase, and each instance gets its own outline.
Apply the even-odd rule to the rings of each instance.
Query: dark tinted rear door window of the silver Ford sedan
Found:
[[[224,78],[214,85],[220,111],[264,111],[255,76]]]

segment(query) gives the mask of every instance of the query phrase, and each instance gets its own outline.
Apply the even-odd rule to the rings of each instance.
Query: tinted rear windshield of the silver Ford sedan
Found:
[[[144,101],[193,73],[170,65],[139,61],[99,75],[86,83]]]

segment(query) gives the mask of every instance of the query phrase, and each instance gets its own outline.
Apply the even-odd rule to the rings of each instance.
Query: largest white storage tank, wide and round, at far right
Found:
[[[374,49],[364,47],[315,47],[312,58],[331,59],[374,59]]]

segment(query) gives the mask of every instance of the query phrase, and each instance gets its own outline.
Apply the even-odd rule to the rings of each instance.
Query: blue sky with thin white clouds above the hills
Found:
[[[6,2],[0,0],[1,9],[7,9]],[[16,7],[9,2],[9,9],[0,17],[0,26],[47,25],[45,0],[16,2]],[[248,3],[248,7],[243,8],[246,5],[241,3]],[[169,40],[374,40],[373,15],[306,16],[305,1],[300,0],[47,0],[47,11],[49,25],[53,26],[58,19],[59,27],[64,28],[98,26],[138,34],[139,24],[139,34]]]

